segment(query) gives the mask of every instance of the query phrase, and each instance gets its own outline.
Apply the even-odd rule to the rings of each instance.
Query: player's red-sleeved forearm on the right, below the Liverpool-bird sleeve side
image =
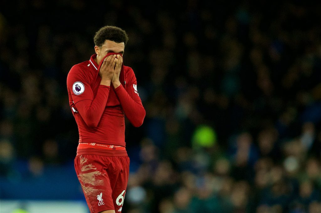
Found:
[[[134,127],[141,126],[146,115],[142,102],[134,101],[122,85],[117,87],[115,92],[128,120]]]

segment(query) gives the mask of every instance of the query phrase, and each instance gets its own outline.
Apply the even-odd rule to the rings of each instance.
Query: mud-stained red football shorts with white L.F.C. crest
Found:
[[[75,170],[91,213],[121,212],[128,182],[129,157],[77,155]]]

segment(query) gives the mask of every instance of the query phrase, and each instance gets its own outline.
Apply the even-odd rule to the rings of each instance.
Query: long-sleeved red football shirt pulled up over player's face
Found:
[[[78,125],[79,143],[126,146],[124,115],[139,127],[146,114],[136,77],[132,68],[122,65],[120,86],[115,89],[112,85],[100,85],[103,60],[98,65],[96,56],[74,65],[67,76],[69,106]]]

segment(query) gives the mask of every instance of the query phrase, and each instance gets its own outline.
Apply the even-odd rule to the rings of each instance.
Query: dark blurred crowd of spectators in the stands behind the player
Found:
[[[66,76],[94,54],[94,33],[115,25],[147,113],[139,128],[126,120],[124,213],[321,212],[320,11],[301,1],[2,2],[0,180],[73,170]]]

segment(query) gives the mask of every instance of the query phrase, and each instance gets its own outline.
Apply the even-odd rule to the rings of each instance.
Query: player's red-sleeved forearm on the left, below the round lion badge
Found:
[[[83,100],[76,103],[76,107],[89,127],[97,127],[100,121],[101,115],[103,114],[110,87],[100,85],[96,94],[96,97],[91,100]]]

